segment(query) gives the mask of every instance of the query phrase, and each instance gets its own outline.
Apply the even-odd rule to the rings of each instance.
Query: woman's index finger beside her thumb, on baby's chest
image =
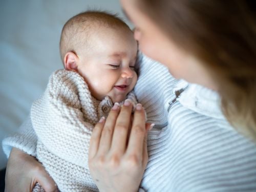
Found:
[[[127,146],[127,154],[133,154],[137,157],[141,157],[143,155],[143,147],[145,147],[144,137],[146,134],[145,112],[142,105],[139,103],[136,105],[134,113],[133,126]]]

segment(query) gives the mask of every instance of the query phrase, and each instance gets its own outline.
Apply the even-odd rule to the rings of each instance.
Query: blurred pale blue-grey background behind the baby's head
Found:
[[[62,68],[58,47],[62,26],[88,9],[118,13],[125,20],[118,0],[1,0],[0,169],[7,163],[3,138],[18,129],[50,74]]]

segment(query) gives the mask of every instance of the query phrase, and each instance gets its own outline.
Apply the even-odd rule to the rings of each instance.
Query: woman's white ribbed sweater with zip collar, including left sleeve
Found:
[[[214,91],[189,84],[173,104],[176,80],[159,63],[141,58],[135,87],[147,119],[148,164],[141,182],[145,191],[256,191],[256,144],[238,134],[221,113]],[[19,133],[3,141],[35,155],[36,137],[27,119]]]

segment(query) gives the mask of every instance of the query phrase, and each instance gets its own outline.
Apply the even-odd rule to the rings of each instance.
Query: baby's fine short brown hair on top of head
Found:
[[[101,27],[131,30],[117,14],[94,10],[79,13],[70,18],[62,28],[59,42],[62,62],[67,52],[77,54],[77,48],[89,48],[90,34],[93,30],[101,30]]]

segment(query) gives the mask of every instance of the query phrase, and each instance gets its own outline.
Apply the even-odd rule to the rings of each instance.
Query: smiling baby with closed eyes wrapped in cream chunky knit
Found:
[[[138,45],[131,29],[105,12],[80,13],[65,24],[60,54],[65,70],[54,72],[32,104],[38,136],[36,158],[60,191],[98,191],[90,176],[90,136],[113,103],[136,104],[131,92]],[[33,191],[44,191],[37,183]]]

